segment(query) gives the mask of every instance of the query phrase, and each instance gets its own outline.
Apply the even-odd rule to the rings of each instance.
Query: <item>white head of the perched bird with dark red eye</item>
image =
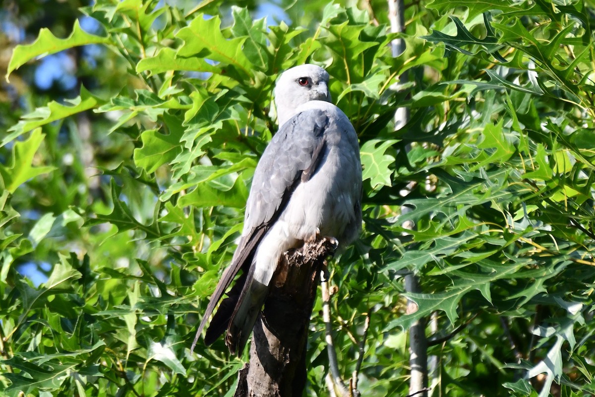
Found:
[[[317,65],[305,64],[281,73],[275,86],[279,126],[295,115],[299,105],[309,101],[331,101],[327,71]]]

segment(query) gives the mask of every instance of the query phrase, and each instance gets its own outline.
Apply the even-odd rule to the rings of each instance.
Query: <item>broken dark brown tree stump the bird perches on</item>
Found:
[[[302,396],[308,325],[320,271],[335,248],[323,238],[281,257],[234,397]]]

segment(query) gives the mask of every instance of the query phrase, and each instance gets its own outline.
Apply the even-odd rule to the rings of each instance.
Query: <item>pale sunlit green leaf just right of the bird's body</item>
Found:
[[[393,171],[390,166],[394,164],[394,157],[386,154],[386,151],[396,142],[395,139],[370,139],[359,150],[364,167],[362,178],[370,180],[373,190],[391,186],[390,176]]]

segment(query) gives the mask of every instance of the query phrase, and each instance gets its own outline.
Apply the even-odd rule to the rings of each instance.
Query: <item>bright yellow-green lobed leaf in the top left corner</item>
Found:
[[[6,81],[8,82],[8,76],[10,76],[13,70],[21,67],[33,58],[55,54],[64,49],[81,45],[103,44],[108,42],[108,37],[90,35],[81,29],[79,20],[74,21],[73,31],[66,39],[58,39],[58,37],[52,35],[52,32],[50,32],[49,29],[44,27],[39,31],[39,35],[35,42],[27,45],[20,44],[14,48],[10,62],[8,63],[5,76]]]

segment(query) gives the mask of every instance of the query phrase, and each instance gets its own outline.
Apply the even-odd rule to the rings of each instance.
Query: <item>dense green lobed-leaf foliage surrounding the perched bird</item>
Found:
[[[406,329],[431,318],[433,396],[595,393],[593,4],[406,2],[398,35],[371,4],[377,20],[312,2],[270,26],[217,1],[98,0],[82,12],[101,35],[74,22],[14,49],[11,82],[77,46],[109,62],[2,137],[2,393],[233,393],[242,361],[189,346],[275,133],[275,79],[306,61],[330,73],[364,165],[364,232],[331,267],[345,376],[362,345],[362,394],[406,395]],[[21,275],[32,265],[41,283]],[[403,291],[411,272],[422,293]],[[311,327],[307,393],[327,395]]]

